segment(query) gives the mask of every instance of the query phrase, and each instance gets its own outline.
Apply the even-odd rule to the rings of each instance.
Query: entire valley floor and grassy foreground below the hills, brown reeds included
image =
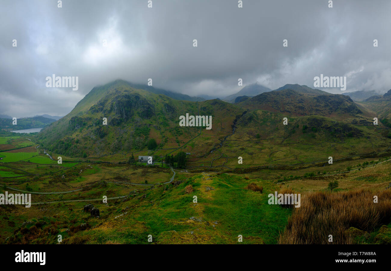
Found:
[[[57,164],[57,155],[51,160],[29,139],[0,140],[10,143],[0,153],[0,194],[30,193],[32,201],[30,208],[0,205],[1,243],[55,244],[62,235],[64,244],[143,244],[151,235],[158,244],[236,244],[240,237],[326,244],[329,234],[333,243],[391,243],[390,157],[246,173],[173,169],[172,180],[164,165],[70,157]],[[301,194],[301,207],[270,205],[275,191]],[[84,212],[88,204],[99,217]]]

